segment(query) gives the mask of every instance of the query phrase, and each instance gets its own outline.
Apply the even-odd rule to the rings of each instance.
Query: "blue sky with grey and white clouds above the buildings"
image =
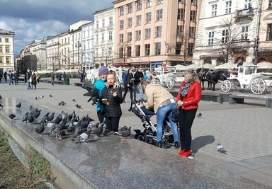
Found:
[[[0,0],[0,29],[15,33],[14,56],[31,41],[64,33],[93,13],[113,7],[113,0]]]

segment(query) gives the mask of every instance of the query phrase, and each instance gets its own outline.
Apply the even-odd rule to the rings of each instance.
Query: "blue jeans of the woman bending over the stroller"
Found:
[[[176,103],[169,103],[157,110],[157,142],[162,141],[162,127],[164,125],[165,118],[169,118],[171,129],[173,130],[174,142],[179,142],[178,126],[172,121],[172,111],[176,108]]]

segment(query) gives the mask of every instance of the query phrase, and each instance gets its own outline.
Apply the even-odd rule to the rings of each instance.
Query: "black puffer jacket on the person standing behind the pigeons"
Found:
[[[113,92],[117,91],[118,95],[113,96]],[[122,115],[121,103],[123,103],[122,89],[120,87],[113,88],[113,86],[104,87],[102,89],[101,98],[107,98],[109,105],[105,105],[105,112],[107,118],[116,118]]]

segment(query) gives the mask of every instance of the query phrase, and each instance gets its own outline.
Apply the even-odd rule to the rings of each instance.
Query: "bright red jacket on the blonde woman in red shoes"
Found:
[[[181,87],[184,86],[185,82],[181,82],[181,86],[179,86],[179,93],[178,96],[176,96],[176,102],[183,101],[182,109],[183,110],[191,110],[198,108],[198,103],[201,98],[201,84],[194,81],[193,84],[191,84],[188,93],[186,96],[183,96],[181,99]]]

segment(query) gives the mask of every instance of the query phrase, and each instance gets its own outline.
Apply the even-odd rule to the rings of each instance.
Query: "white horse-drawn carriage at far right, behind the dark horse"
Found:
[[[229,92],[232,86],[237,91],[250,88],[254,94],[261,94],[263,91],[272,92],[272,73],[257,73],[256,65],[239,66],[229,70],[229,77],[222,81],[221,90]]]

